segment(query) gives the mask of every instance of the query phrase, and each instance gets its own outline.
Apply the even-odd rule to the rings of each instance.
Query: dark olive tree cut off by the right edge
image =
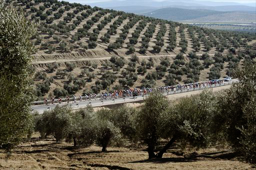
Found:
[[[256,64],[245,63],[234,72],[239,82],[219,96],[215,125],[246,160],[256,160]]]

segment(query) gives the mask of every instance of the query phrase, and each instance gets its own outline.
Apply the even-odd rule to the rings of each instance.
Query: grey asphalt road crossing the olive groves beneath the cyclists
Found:
[[[209,89],[209,88],[217,88],[220,86],[226,86],[230,85],[232,83],[238,82],[238,80],[234,79],[231,82],[223,82],[221,85],[216,85],[216,86],[211,86],[211,87],[202,87],[202,88],[194,88],[194,89],[188,89],[188,90],[182,90],[182,91],[175,91],[175,92],[168,92],[168,93],[163,93],[163,95],[167,95],[168,97],[171,97],[171,95],[176,95],[176,94],[184,94],[186,96],[187,93],[192,92],[192,91],[200,91],[203,89]],[[136,97],[125,97],[125,98],[118,98],[118,99],[109,99],[109,100],[91,100],[91,101],[77,101],[77,102],[69,102],[68,105],[70,105],[72,110],[80,109],[87,107],[88,105],[92,107],[102,107],[102,106],[107,106],[107,105],[115,105],[115,104],[121,104],[121,103],[131,103],[131,102],[141,102],[143,101],[147,95],[145,96],[136,96]],[[54,109],[57,104],[53,105],[33,105],[31,106],[32,111],[37,111],[39,114],[42,114],[43,111],[46,110],[51,110]],[[64,106],[66,105],[65,102],[58,104],[59,106]]]

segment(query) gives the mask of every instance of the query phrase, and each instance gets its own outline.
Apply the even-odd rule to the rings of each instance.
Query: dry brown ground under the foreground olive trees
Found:
[[[13,150],[8,160],[0,151],[1,170],[252,170],[250,165],[237,161],[237,158],[228,159],[185,159],[176,156],[168,150],[162,159],[147,160],[145,146],[127,146],[124,148],[108,148],[108,152],[101,153],[97,146],[76,147],[68,143],[55,143],[53,138],[39,140],[34,134],[30,141],[19,145]],[[191,153],[193,149],[185,152]],[[228,149],[199,150],[197,153],[226,153]],[[124,169],[126,168],[126,169]]]

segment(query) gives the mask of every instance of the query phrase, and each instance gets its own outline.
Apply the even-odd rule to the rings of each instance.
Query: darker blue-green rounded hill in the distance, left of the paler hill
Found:
[[[188,20],[197,17],[221,14],[224,12],[214,11],[209,9],[181,9],[176,7],[166,7],[157,9],[148,13],[144,13],[145,16],[166,19],[166,20]]]

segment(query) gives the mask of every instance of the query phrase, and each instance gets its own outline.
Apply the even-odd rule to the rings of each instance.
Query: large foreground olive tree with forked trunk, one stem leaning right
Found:
[[[148,146],[148,159],[162,158],[174,142],[179,142],[183,147],[186,144],[208,146],[216,103],[214,95],[208,91],[182,98],[173,105],[161,94],[152,93],[145,100],[137,118],[138,135]],[[160,138],[168,142],[155,154],[154,149]]]

